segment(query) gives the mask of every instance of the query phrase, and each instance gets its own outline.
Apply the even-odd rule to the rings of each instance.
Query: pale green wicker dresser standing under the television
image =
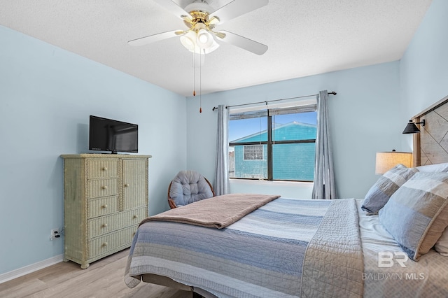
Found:
[[[64,158],[64,261],[90,262],[130,247],[148,215],[151,155],[79,154]]]

